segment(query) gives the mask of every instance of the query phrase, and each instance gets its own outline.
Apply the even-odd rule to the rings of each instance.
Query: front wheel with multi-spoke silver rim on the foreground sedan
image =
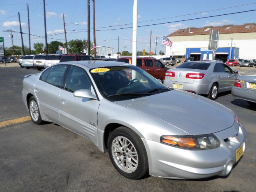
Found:
[[[129,179],[148,174],[148,156],[141,138],[126,127],[115,129],[108,139],[108,154],[116,170]]]

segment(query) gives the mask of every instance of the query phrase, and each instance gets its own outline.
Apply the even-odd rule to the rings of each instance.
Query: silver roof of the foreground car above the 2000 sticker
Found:
[[[116,62],[116,61],[102,61],[102,60],[88,60],[88,61],[71,61],[71,62],[62,62],[60,64],[80,64],[84,65],[90,69],[99,68],[99,67],[110,67],[110,66],[130,66],[131,64]]]

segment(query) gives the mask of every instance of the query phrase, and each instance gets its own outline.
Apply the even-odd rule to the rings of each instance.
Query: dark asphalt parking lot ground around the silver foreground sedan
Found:
[[[170,66],[174,68],[175,66]],[[231,67],[239,74],[256,68]],[[148,176],[129,180],[112,166],[89,140],[56,124],[30,120],[1,122],[28,116],[22,102],[24,75],[36,69],[0,68],[0,191],[216,191],[254,192],[256,189],[256,107],[222,93],[216,102],[233,110],[247,131],[247,151],[227,178],[168,180]]]

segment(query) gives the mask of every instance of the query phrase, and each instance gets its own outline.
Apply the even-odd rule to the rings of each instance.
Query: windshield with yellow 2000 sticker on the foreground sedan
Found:
[[[170,91],[161,82],[136,66],[112,66],[90,70],[101,94],[120,101]]]

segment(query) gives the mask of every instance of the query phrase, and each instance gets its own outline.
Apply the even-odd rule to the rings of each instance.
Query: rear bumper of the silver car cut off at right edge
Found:
[[[256,102],[256,90],[248,90],[239,87],[233,87],[231,90],[233,96],[243,100]]]

